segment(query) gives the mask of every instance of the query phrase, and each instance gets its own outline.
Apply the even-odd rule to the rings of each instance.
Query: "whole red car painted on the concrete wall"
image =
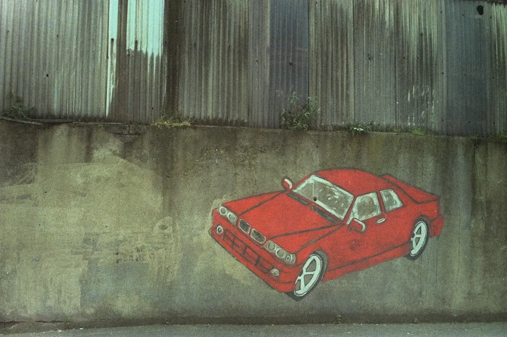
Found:
[[[389,175],[320,171],[283,186],[213,209],[209,233],[295,300],[319,281],[402,256],[417,259],[444,225],[437,195]]]

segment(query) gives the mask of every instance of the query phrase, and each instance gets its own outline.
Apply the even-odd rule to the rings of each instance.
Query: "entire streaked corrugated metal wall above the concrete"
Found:
[[[507,6],[473,0],[4,0],[0,107],[277,128],[296,92],[324,127],[491,135],[506,29]]]

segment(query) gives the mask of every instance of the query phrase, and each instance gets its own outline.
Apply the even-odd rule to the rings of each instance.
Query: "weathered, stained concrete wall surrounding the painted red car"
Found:
[[[0,121],[0,321],[506,320],[506,158],[505,143],[458,137]],[[209,237],[221,202],[343,167],[441,195],[421,258],[294,302]]]

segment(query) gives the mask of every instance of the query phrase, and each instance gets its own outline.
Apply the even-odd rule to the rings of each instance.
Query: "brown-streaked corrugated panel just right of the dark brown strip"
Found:
[[[248,3],[187,1],[182,8],[179,113],[246,123]]]

